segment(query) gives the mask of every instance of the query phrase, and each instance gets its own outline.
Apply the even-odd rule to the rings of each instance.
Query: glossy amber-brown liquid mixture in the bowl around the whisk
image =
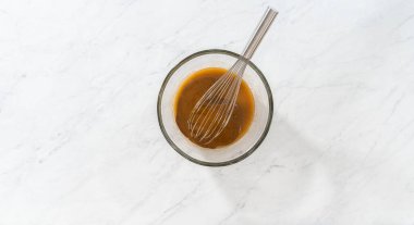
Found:
[[[234,111],[222,133],[209,143],[202,143],[191,137],[187,121],[194,105],[226,72],[226,68],[220,67],[208,67],[197,71],[183,82],[175,95],[174,112],[179,128],[191,141],[205,148],[214,149],[233,143],[247,132],[253,121],[255,112],[254,98],[249,87],[243,80],[240,86]]]

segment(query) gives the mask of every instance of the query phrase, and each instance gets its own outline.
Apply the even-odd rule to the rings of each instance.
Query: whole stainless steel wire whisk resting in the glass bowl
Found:
[[[203,143],[217,138],[228,125],[238,99],[244,70],[278,12],[268,8],[241,58],[197,101],[187,124],[191,136]]]

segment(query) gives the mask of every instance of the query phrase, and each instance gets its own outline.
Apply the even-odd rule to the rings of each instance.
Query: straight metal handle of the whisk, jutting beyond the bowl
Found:
[[[275,17],[278,15],[278,12],[271,8],[267,8],[260,23],[258,24],[252,39],[248,41],[246,48],[243,51],[243,57],[249,60],[255,53],[258,45],[260,43],[263,37],[265,37],[270,25],[273,23]]]

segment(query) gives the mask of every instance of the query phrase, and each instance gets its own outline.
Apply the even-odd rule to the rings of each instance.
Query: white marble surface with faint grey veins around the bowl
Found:
[[[276,118],[228,167],[175,153],[186,54],[254,57]],[[0,1],[0,224],[414,224],[413,0]]]

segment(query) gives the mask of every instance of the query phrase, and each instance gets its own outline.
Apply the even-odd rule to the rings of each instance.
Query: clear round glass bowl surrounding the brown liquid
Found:
[[[157,104],[159,126],[171,147],[194,163],[223,166],[240,162],[257,149],[269,130],[273,115],[270,87],[263,73],[251,61],[247,62],[243,79],[253,92],[255,114],[251,127],[242,138],[229,146],[207,149],[190,141],[175,123],[174,98],[183,80],[205,67],[230,68],[239,58],[240,54],[221,49],[199,51],[176,64],[162,83]]]

